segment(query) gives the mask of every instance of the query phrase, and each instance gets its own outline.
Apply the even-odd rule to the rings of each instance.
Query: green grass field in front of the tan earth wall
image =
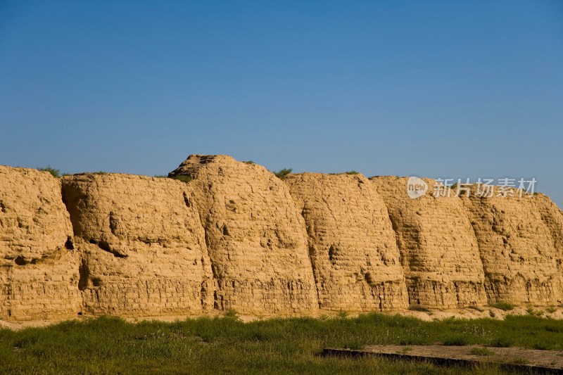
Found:
[[[99,317],[44,328],[0,330],[0,372],[8,374],[503,374],[495,365],[440,367],[374,357],[322,357],[327,347],[371,344],[563,349],[563,321],[533,316],[422,322],[399,315],[328,319],[236,317],[128,323]]]

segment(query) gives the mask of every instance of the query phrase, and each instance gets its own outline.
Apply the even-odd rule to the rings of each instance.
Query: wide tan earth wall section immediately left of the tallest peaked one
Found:
[[[213,309],[203,227],[188,184],[127,174],[63,177],[80,248],[84,312],[201,314]]]

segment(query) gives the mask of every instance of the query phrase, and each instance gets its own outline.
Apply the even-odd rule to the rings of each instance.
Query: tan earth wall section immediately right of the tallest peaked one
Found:
[[[405,275],[387,208],[362,174],[289,174],[305,218],[320,307],[402,310]]]

